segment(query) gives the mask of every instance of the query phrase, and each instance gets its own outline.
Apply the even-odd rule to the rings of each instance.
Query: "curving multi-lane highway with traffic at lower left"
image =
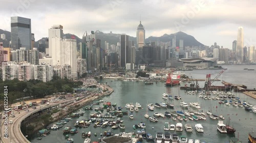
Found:
[[[89,92],[90,93],[90,92]],[[88,93],[88,94],[89,94]],[[84,95],[82,97],[86,98],[88,96],[88,94]],[[45,105],[45,104],[40,104],[36,106],[36,109],[33,108],[26,108],[20,111],[16,111],[14,110],[14,118],[11,118],[11,116],[8,117],[8,137],[5,138],[4,136],[4,130],[5,130],[5,125],[4,125],[4,119],[2,116],[2,124],[1,124],[1,140],[3,143],[25,143],[25,142],[30,142],[20,131],[20,125],[22,123],[23,120],[25,120],[27,117],[29,117],[30,115],[32,115],[32,113],[38,112],[39,110],[42,109],[46,109],[49,108],[51,106],[55,106],[55,105],[60,105],[61,103],[65,103],[65,102],[73,102],[74,100],[76,100],[76,98],[72,98],[70,100],[70,98],[65,99],[65,100],[60,100],[58,103],[50,103],[49,105]],[[63,104],[66,105],[66,104]],[[63,106],[61,105],[61,106]],[[29,112],[26,112],[25,110],[29,109]],[[18,113],[19,112],[19,113]],[[9,121],[12,120],[12,124],[9,124]],[[1,141],[0,140],[0,141]]]

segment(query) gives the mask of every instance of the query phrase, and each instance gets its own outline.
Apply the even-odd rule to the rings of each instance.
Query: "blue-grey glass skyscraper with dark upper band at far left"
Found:
[[[11,17],[11,47],[19,49],[25,47],[31,48],[31,19],[13,16]]]

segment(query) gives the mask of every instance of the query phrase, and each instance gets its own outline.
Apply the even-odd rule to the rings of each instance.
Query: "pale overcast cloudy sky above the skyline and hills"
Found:
[[[178,31],[205,45],[232,48],[239,26],[245,45],[256,45],[255,0],[0,0],[0,28],[11,31],[10,16],[31,18],[36,40],[48,37],[53,24],[82,37],[85,31],[136,36],[140,21],[146,38]]]

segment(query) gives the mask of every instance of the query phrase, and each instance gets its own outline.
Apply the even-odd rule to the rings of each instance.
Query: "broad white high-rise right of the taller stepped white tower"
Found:
[[[63,39],[61,42],[61,65],[70,65],[72,79],[77,78],[77,49],[75,39]]]

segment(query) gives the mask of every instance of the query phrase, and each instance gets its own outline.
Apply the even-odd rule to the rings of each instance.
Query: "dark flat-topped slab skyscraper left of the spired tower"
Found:
[[[129,63],[129,36],[121,35],[121,67],[125,67],[126,63]]]

